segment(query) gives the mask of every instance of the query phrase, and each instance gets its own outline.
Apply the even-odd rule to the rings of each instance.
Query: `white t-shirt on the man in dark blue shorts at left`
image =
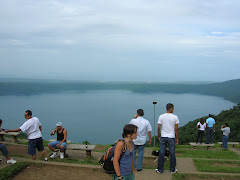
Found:
[[[41,126],[39,119],[37,117],[32,117],[27,120],[20,129],[27,133],[28,139],[36,139],[42,137],[39,126]]]

